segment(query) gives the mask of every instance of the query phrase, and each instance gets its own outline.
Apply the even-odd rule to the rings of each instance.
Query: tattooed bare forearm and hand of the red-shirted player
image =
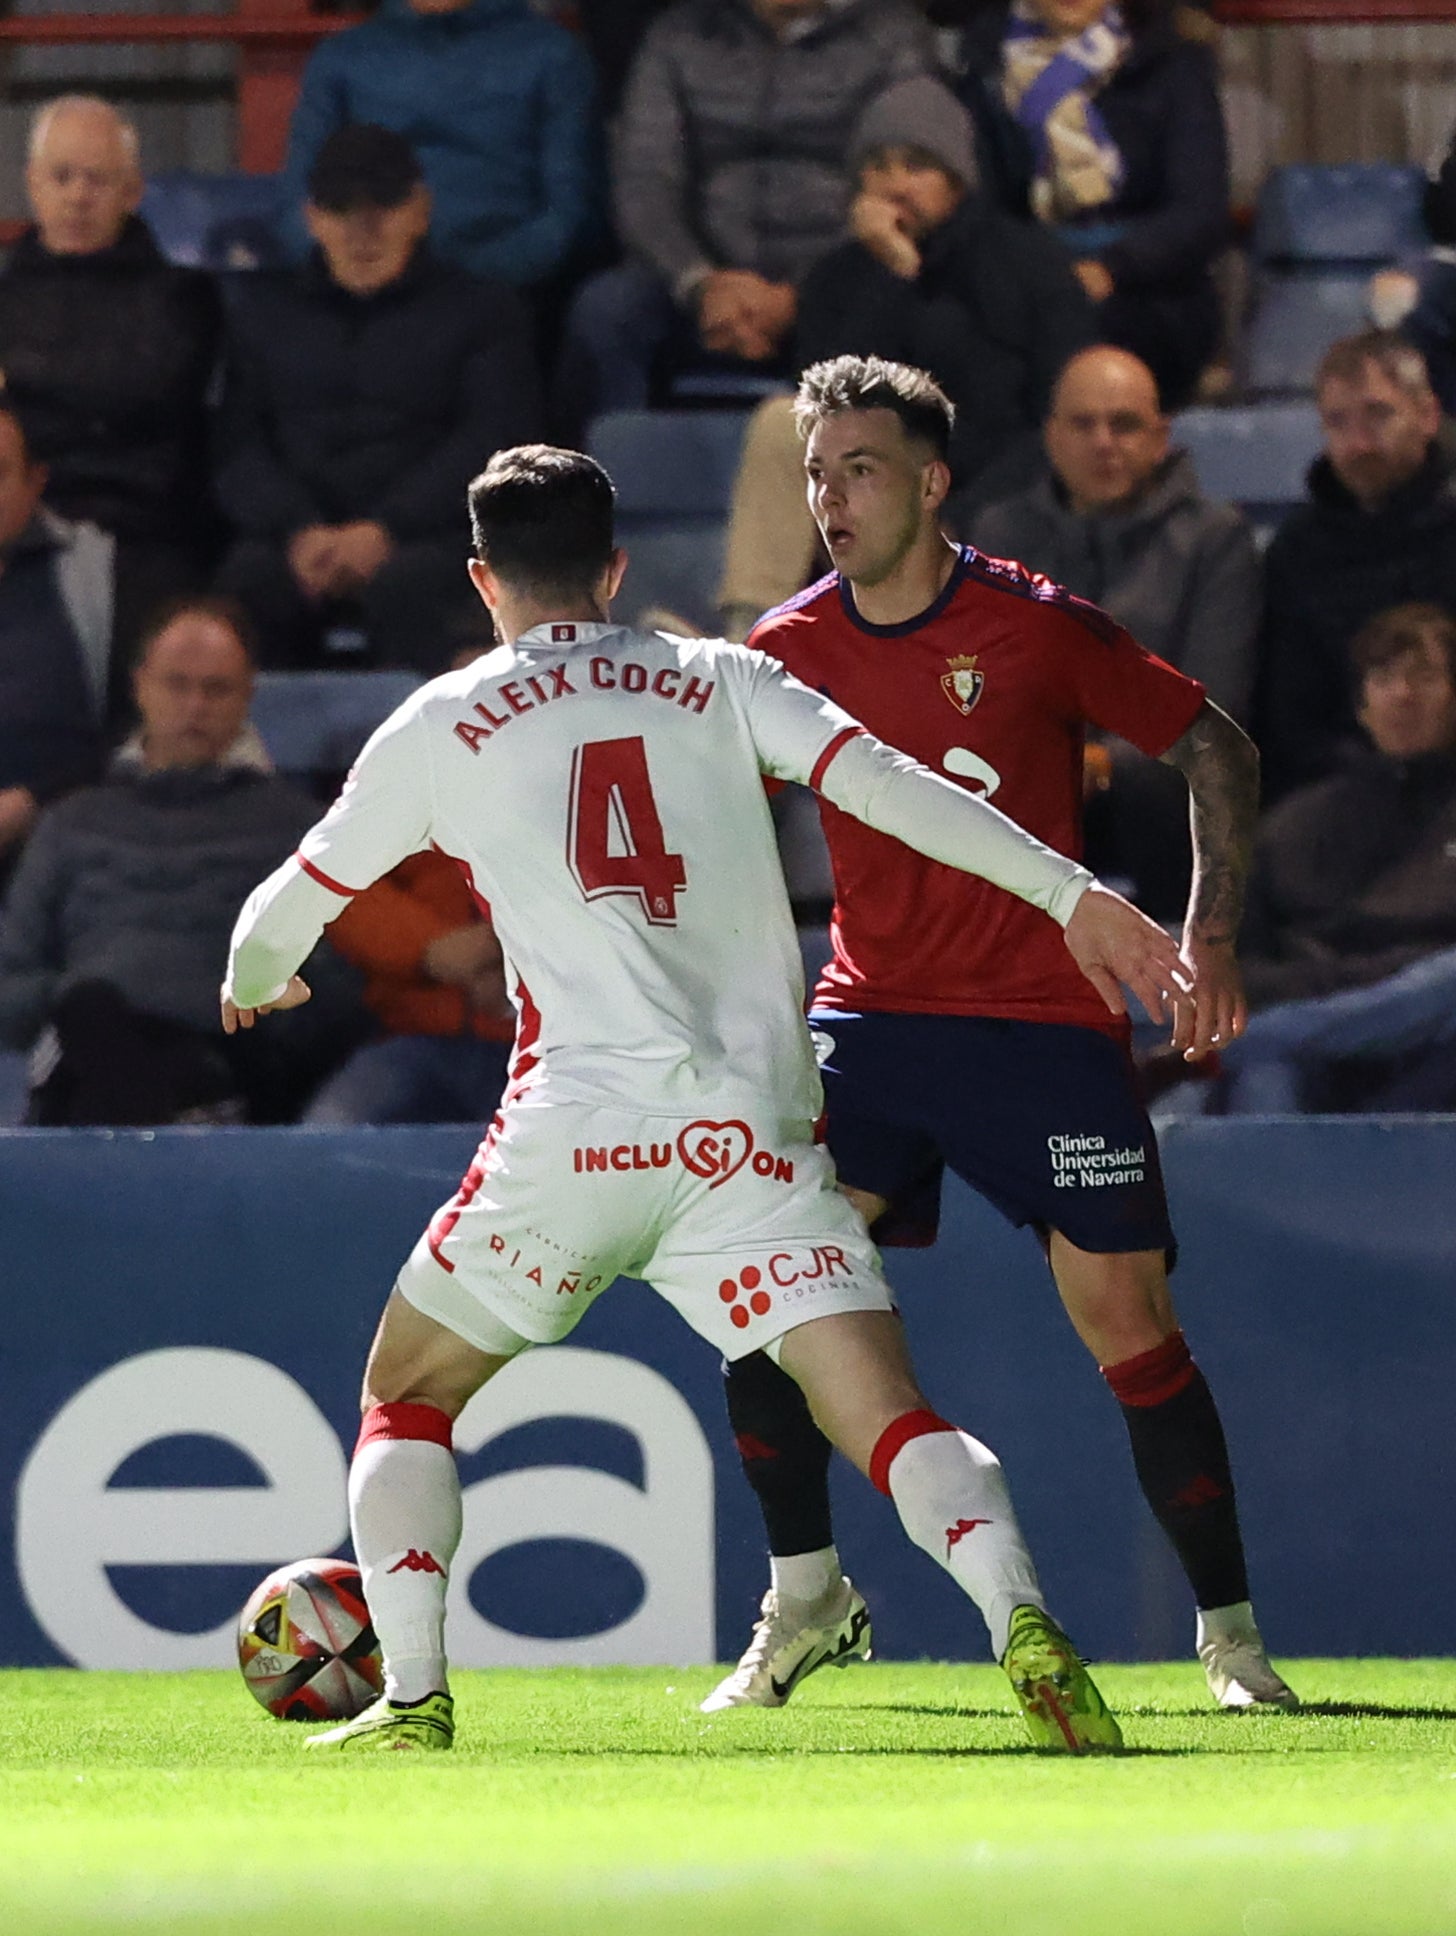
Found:
[[[1189,730],[1162,757],[1177,767],[1191,796],[1193,889],[1183,953],[1197,970],[1198,1018],[1191,1040],[1175,1038],[1175,1045],[1197,1063],[1210,1049],[1228,1047],[1249,1018],[1233,947],[1259,815],[1259,751],[1228,712],[1204,699]]]

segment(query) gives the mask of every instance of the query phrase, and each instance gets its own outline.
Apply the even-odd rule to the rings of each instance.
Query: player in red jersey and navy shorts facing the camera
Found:
[[[1233,1040],[1259,796],[1245,734],[1106,612],[943,536],[953,407],[925,372],[860,356],[815,364],[796,414],[836,569],[749,643],[1073,858],[1086,728],[1177,767],[1195,838],[1183,953],[1200,999],[1197,1028],[1175,1040],[1193,1059]],[[809,1020],[842,1189],[881,1243],[933,1241],[945,1167],[1038,1231],[1193,1588],[1214,1700],[1297,1706],[1255,1626],[1224,1431],[1173,1315],[1173,1231],[1117,989],[1080,978],[1013,896],[833,805],[821,813],[834,953]],[[726,1376],[773,1580],[747,1651],[705,1711],[782,1706],[813,1669],[869,1653],[867,1609],[833,1545],[825,1440],[765,1357],[740,1357]]]

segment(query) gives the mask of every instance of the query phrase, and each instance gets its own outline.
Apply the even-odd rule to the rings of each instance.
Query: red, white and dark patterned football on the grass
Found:
[[[294,1560],[258,1586],[238,1615],[248,1692],[281,1721],[349,1721],[383,1692],[358,1566]]]

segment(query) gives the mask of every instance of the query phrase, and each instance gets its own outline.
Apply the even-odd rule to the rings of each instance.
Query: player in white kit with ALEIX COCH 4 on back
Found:
[[[1119,1744],[1046,1611],[995,1456],[937,1417],[864,1224],[813,1140],[821,1090],[763,776],[1044,908],[1106,999],[1179,1007],[1135,908],[986,802],[738,645],[633,633],[612,484],[575,451],[496,455],[470,486],[470,577],[505,641],[410,697],[337,803],[244,906],[223,1024],[308,991],[343,902],[434,846],[490,912],[519,1032],[500,1113],[407,1260],[364,1376],[349,1483],[385,1694],[312,1748],[447,1748],[451,1423],[620,1274],[728,1357],[769,1351],[910,1539],[980,1607],[1032,1739]]]

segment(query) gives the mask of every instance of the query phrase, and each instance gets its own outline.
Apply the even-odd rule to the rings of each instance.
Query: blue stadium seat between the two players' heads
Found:
[[[629,565],[616,602],[633,623],[666,606],[693,625],[716,623],[728,503],[743,410],[618,410],[598,416],[587,445],[618,486],[618,534]]]

